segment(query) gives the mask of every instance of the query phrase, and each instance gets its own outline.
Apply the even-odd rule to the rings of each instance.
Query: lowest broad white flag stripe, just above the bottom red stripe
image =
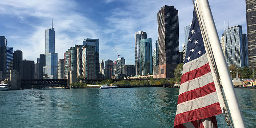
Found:
[[[215,92],[205,95],[203,97],[199,97],[196,99],[192,99],[190,101],[182,102],[177,105],[176,115],[184,113],[186,111],[196,110],[201,107],[206,107],[211,104],[217,103],[217,102],[219,102],[219,99],[216,98],[217,96],[218,96],[217,92],[215,91]]]

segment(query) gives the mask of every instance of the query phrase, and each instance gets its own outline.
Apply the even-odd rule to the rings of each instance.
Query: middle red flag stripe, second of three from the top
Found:
[[[205,85],[203,87],[199,87],[197,89],[187,91],[185,93],[180,94],[178,97],[178,104],[185,102],[185,101],[189,101],[191,99],[196,99],[196,98],[205,96],[205,95],[213,93],[215,91],[216,91],[216,89],[215,89],[214,82],[208,83],[207,85]]]

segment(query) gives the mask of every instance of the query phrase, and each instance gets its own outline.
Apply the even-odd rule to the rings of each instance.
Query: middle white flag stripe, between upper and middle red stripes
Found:
[[[211,72],[209,72],[201,77],[182,83],[179,88],[179,95],[187,91],[191,91],[199,87],[203,87],[211,82],[213,82],[213,76]]]

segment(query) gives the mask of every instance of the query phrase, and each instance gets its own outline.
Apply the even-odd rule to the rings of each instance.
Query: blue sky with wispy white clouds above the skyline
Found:
[[[210,0],[219,37],[225,28],[242,25],[246,30],[245,0]],[[55,53],[58,59],[83,39],[99,39],[100,60],[126,59],[135,64],[134,33],[146,31],[152,38],[152,50],[157,39],[157,13],[162,6],[179,10],[179,46],[182,50],[184,27],[192,22],[193,3],[190,0],[5,0],[0,3],[0,36],[7,46],[23,52],[23,60],[34,60],[45,54],[45,30],[55,28]],[[113,48],[115,46],[115,49]]]

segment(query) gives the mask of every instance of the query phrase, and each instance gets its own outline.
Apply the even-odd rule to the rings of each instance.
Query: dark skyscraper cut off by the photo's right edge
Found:
[[[256,67],[256,0],[246,0],[246,23],[248,38],[249,68]]]

